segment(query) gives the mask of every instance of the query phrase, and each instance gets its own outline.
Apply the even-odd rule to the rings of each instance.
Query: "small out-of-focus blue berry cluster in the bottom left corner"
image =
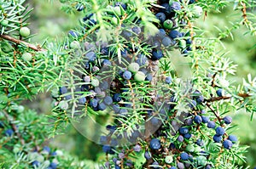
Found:
[[[59,163],[58,155],[62,155],[62,153],[60,150],[51,150],[48,146],[40,149],[43,143],[38,140],[44,140],[45,134],[42,132],[44,129],[42,124],[36,122],[40,117],[33,111],[25,111],[22,105],[11,104],[6,107],[6,110],[9,110],[9,113],[5,110],[0,111],[0,135],[3,140],[1,149],[3,151],[9,149],[14,155],[26,155],[20,160],[20,167],[24,162],[30,168],[56,169]],[[23,121],[28,116],[32,116],[32,118],[26,122],[33,124],[29,127]],[[44,118],[41,117],[42,119]],[[35,138],[38,140],[35,141]],[[2,157],[4,158],[4,156],[6,155]]]

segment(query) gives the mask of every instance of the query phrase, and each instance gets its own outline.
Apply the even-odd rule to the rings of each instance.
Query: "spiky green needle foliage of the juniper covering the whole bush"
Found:
[[[61,153],[59,149],[46,150],[44,145],[47,144],[47,138],[54,138],[55,135],[65,132],[70,123],[74,125],[78,122],[78,130],[82,131],[84,118],[96,121],[100,115],[103,116],[104,121],[101,122],[104,125],[111,123],[116,127],[115,132],[111,134],[115,139],[119,134],[123,134],[121,137],[125,138],[124,133],[130,139],[139,130],[146,133],[143,136],[145,138],[133,140],[133,144],[143,148],[140,152],[135,152],[133,146],[127,143],[121,144],[120,149],[115,149],[115,155],[108,155],[108,152],[107,159],[117,158],[120,152],[125,154],[119,164],[108,159],[111,168],[148,168],[153,160],[146,161],[144,153],[150,149],[149,142],[152,138],[159,138],[163,147],[162,152],[150,149],[154,152],[154,161],[158,161],[163,168],[177,165],[177,162],[181,161],[179,155],[185,149],[195,155],[195,161],[190,162],[194,168],[202,168],[207,164],[213,168],[247,167],[244,156],[247,146],[233,144],[232,149],[224,149],[222,144],[212,141],[215,131],[207,125],[199,126],[195,122],[184,125],[183,120],[189,119],[188,114],[199,115],[201,110],[206,110],[205,115],[227,131],[223,139],[226,139],[235,127],[224,124],[223,117],[227,113],[246,110],[253,120],[253,114],[256,112],[256,77],[253,78],[249,74],[240,85],[232,82],[230,77],[236,76],[237,65],[228,58],[224,50],[219,49],[219,46],[223,45],[222,40],[233,38],[232,32],[240,30],[243,25],[247,28],[244,34],[255,38],[256,15],[253,14],[253,1],[199,0],[192,4],[183,1],[183,8],[174,11],[172,20],[177,24],[175,29],[183,32],[184,36],[175,38],[177,45],[170,48],[161,47],[164,57],[158,58],[159,60],[154,59],[154,48],[147,43],[148,37],[159,36],[157,33],[161,26],[154,13],[162,7],[154,0],[125,0],[122,3],[127,4],[126,9],[119,5],[114,6],[116,1],[61,1],[61,8],[67,14],[81,10],[85,16],[93,15],[90,20],[79,20],[79,26],[73,28],[73,35],[69,33],[63,40],[52,42],[45,40],[41,45],[31,43],[34,35],[30,35],[27,21],[32,9],[24,6],[24,3],[25,0],[0,0],[1,167],[32,168],[36,167],[33,162],[37,161],[41,164],[39,168],[47,168],[53,162],[58,168],[99,168],[97,163],[79,161],[73,155]],[[239,17],[236,16],[238,20],[224,30],[216,27],[219,30],[217,36],[205,36],[204,29],[197,26],[197,22],[200,22],[197,20],[202,20],[202,17],[207,17],[212,11],[222,12],[223,8],[229,5],[234,5],[233,9],[240,11]],[[143,27],[143,36],[131,31],[135,26]],[[164,22],[164,26],[169,32],[174,25]],[[125,38],[124,32],[126,35],[131,33],[131,37]],[[188,38],[192,41],[191,51],[185,54]],[[104,42],[108,42],[107,54],[102,52],[101,45]],[[130,48],[127,52],[129,59],[123,54],[127,48]],[[255,48],[255,44],[251,44],[250,48]],[[92,50],[93,54],[90,53]],[[173,57],[178,51],[187,57],[179,64],[187,65],[183,71],[191,74],[189,78],[180,76],[177,72],[177,63]],[[149,61],[137,69],[137,64],[129,63],[137,61],[140,54],[148,57]],[[104,59],[109,59],[111,65],[104,66]],[[90,69],[85,68],[86,64]],[[99,67],[102,70],[96,69]],[[119,71],[122,72],[124,67],[131,71],[131,80],[124,81],[119,75]],[[146,75],[140,70],[142,68],[147,68],[152,73],[152,82],[145,81]],[[82,81],[83,76],[90,76],[90,82]],[[172,82],[166,82],[166,77],[172,78]],[[111,85],[113,82],[117,83],[117,87],[112,86],[109,93],[93,91],[108,79],[111,80]],[[64,90],[62,87],[65,87],[67,92],[61,92]],[[80,87],[89,89],[78,90]],[[218,88],[224,90],[223,96],[216,96]],[[38,115],[33,110],[24,110],[20,105],[21,101],[33,99],[44,91],[51,91],[51,96],[55,99],[50,115]],[[121,110],[126,110],[123,114],[114,114],[109,107],[106,110],[99,108],[100,104],[97,104],[97,108],[90,106],[90,101],[96,94],[99,99],[104,99],[106,94],[112,96],[114,93],[121,93],[120,91],[125,91],[120,95],[119,103],[121,106],[126,105],[121,107]],[[193,101],[199,97],[197,91],[200,91],[204,100],[198,101],[195,106]],[[81,104],[80,99],[84,98],[90,100]],[[148,112],[153,115],[148,115]],[[150,131],[147,125],[153,118],[160,121],[161,125],[158,129]],[[193,137],[190,140],[186,138],[183,143],[177,142],[180,134],[173,123],[189,127]],[[102,131],[107,131],[99,127],[94,129],[95,131],[90,131],[90,136],[85,135],[99,143]],[[201,147],[195,145],[197,138],[203,139],[205,144]],[[174,150],[170,148],[171,144],[176,147]],[[195,145],[196,150],[191,150],[191,145]],[[166,160],[170,155],[172,161]],[[127,163],[131,164],[131,167]]]

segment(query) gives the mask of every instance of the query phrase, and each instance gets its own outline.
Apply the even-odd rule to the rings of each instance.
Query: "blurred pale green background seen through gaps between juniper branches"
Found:
[[[44,42],[45,38],[48,38],[49,41],[60,40],[67,34],[67,31],[79,25],[78,20],[82,17],[81,13],[65,14],[60,9],[61,3],[59,1],[52,2],[49,3],[47,0],[28,1],[34,8],[30,20],[31,25],[29,25],[32,28],[32,33],[37,34],[32,39],[33,42]],[[206,36],[218,37],[219,31],[215,26],[224,30],[226,26],[231,26],[230,21],[240,19],[240,11],[236,11],[235,14],[231,12],[232,7],[224,8],[221,14],[208,14],[206,20],[203,21],[201,18],[197,25],[206,31]],[[241,82],[242,77],[246,77],[249,73],[256,76],[256,49],[252,48],[256,39],[249,34],[244,35],[245,32],[247,32],[247,29],[244,27],[233,31],[234,40],[231,37],[224,38],[222,42],[226,48],[219,47],[229,52],[230,59],[238,65],[236,76],[232,77],[234,82]],[[49,93],[45,93],[33,100],[29,107],[38,110],[40,113],[49,114],[50,104]],[[250,121],[250,115],[243,111],[231,115],[234,116],[234,122],[238,125],[234,134],[239,136],[241,144],[250,146],[247,152],[247,162],[253,168],[253,166],[256,166],[256,116],[254,115],[253,121]],[[50,140],[50,144],[61,149],[67,149],[72,155],[77,155],[81,160],[101,161],[104,158],[101,146],[84,138],[72,126],[67,127],[65,135]]]

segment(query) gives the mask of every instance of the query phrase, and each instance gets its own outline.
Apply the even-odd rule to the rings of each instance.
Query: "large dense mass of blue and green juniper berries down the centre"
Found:
[[[82,39],[67,45],[73,56],[84,56],[84,74],[79,75],[79,85],[75,89],[79,94],[74,94],[78,103],[85,105],[85,109],[114,112],[114,125],[108,125],[108,134],[100,138],[103,152],[111,155],[112,161],[102,167],[212,168],[211,161],[216,157],[212,149],[207,149],[209,144],[218,150],[230,150],[236,144],[236,136],[228,136],[225,131],[225,125],[230,125],[230,116],[222,119],[215,112],[211,115],[214,110],[207,107],[202,93],[191,89],[193,87],[189,91],[191,96],[186,99],[176,97],[172,87],[177,84],[172,82],[172,75],[156,73],[160,69],[159,61],[165,56],[164,50],[179,48],[184,56],[192,50],[193,32],[183,31],[183,25],[189,24],[187,17],[197,18],[202,14],[202,8],[192,3],[195,1],[189,1],[193,5],[191,14],[183,16],[179,14],[184,5],[188,5],[185,2],[159,1],[159,6],[152,8],[159,20],[155,24],[159,31],[149,38],[143,37],[141,20],[133,20],[137,25],[121,24],[120,36],[125,46],[119,52],[111,48],[114,41],[94,43]],[[81,6],[77,9],[83,10]],[[116,3],[108,9],[112,11],[107,13],[108,21],[118,25],[122,11],[129,11],[129,5]],[[96,24],[95,14],[83,19],[85,31]],[[75,31],[69,34],[73,39],[80,37]],[[163,88],[154,87],[157,85]],[[143,88],[146,87],[159,91],[145,93]],[[73,95],[67,87],[61,87],[58,92],[61,98],[55,99],[61,109],[67,110],[67,100],[74,99]],[[223,97],[223,90],[218,89],[217,94]],[[185,109],[177,115],[176,105],[180,102]],[[135,116],[134,111],[141,118]],[[137,121],[133,121],[134,118]],[[132,129],[126,127],[124,121],[134,122]],[[122,127],[131,130],[121,130]],[[119,149],[120,146],[125,148]],[[140,155],[146,161],[137,164],[132,157],[140,158]]]

